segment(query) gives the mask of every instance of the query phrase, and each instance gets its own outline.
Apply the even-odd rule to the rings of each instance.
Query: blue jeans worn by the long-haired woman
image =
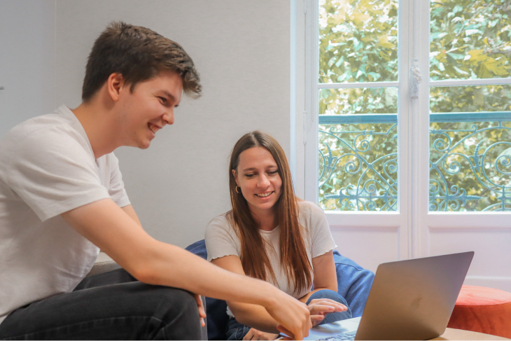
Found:
[[[336,302],[339,302],[348,307],[348,303],[346,303],[346,300],[344,300],[341,295],[328,289],[323,289],[313,293],[311,297],[309,297],[309,300],[307,300],[307,305],[309,305],[311,300],[316,300],[317,298],[330,298],[330,300],[335,300]],[[346,310],[346,312],[331,312],[330,314],[327,314],[325,319],[323,319],[323,321],[321,321],[319,324],[332,323],[345,319],[351,319],[351,310],[349,308]],[[248,333],[248,330],[250,330],[250,327],[244,326],[243,324],[236,321],[234,317],[231,317],[227,325],[227,341],[243,340],[243,337]]]

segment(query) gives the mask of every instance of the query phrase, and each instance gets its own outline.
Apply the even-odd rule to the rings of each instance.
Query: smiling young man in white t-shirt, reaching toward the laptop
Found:
[[[197,295],[262,305],[295,340],[308,334],[321,307],[141,228],[112,152],[148,148],[183,91],[201,92],[183,48],[114,22],[90,53],[83,103],[1,139],[0,340],[200,340]],[[84,279],[99,248],[125,270]]]

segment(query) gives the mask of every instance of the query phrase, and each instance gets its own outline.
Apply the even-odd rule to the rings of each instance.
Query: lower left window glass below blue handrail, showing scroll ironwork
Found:
[[[397,132],[396,123],[320,124],[319,206],[397,211]]]

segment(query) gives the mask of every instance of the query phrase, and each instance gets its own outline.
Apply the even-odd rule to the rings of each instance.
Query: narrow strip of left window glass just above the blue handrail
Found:
[[[319,114],[397,113],[398,88],[322,89]]]

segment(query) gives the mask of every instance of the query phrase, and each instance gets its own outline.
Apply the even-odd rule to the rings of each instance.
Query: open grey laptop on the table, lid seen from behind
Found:
[[[447,328],[474,252],[378,266],[361,317],[315,326],[304,341],[422,341]]]

